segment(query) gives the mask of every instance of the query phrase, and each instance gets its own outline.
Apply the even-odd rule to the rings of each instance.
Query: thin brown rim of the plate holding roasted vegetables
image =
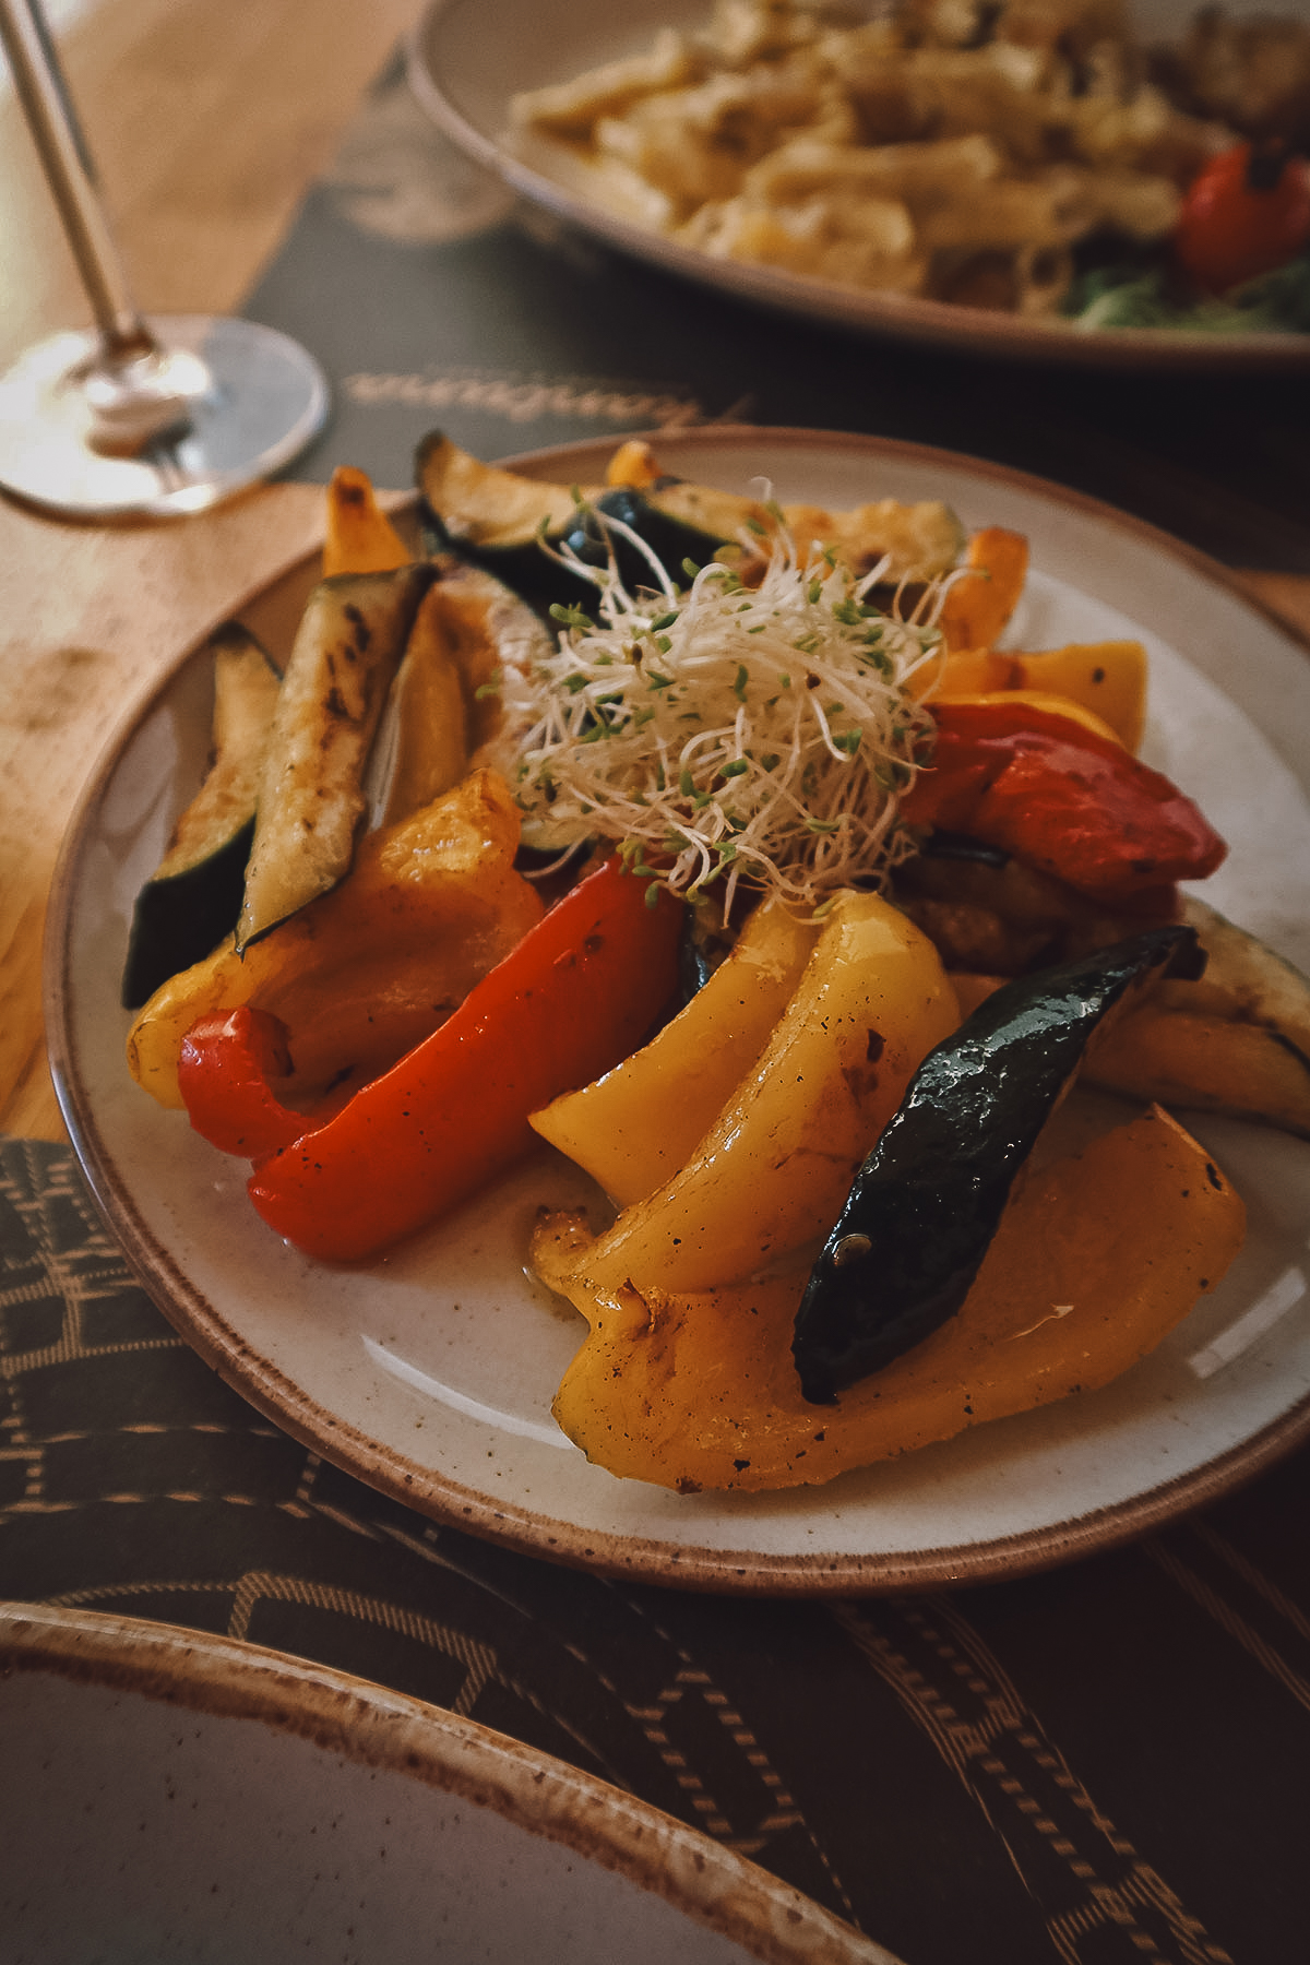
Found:
[[[668,442],[670,434],[680,444],[693,448],[713,448],[717,444],[740,440],[780,448],[837,448],[852,450],[868,458],[896,458],[927,470],[951,468],[966,472],[980,481],[1004,481],[1019,491],[1055,501],[1066,509],[1082,513],[1094,521],[1108,523],[1119,533],[1145,540],[1153,550],[1182,562],[1194,576],[1220,588],[1239,605],[1263,615],[1292,646],[1310,660],[1310,637],[1283,619],[1273,607],[1251,595],[1241,580],[1208,554],[1173,538],[1143,519],[1123,513],[1114,505],[1074,491],[1051,479],[1037,477],[1011,466],[992,464],[986,458],[972,458],[962,452],[949,452],[929,444],[915,444],[901,438],[878,438],[848,434],[841,430],[807,430],[797,426],[772,424],[707,424],[689,430],[646,430],[632,432],[638,440],[652,444]],[[517,452],[499,460],[505,466],[522,470],[546,470],[570,456],[615,448],[623,436],[581,438],[572,444],[544,446],[530,452]],[[410,501],[412,505],[414,501]],[[407,507],[401,507],[407,509]],[[316,552],[297,552],[289,556],[281,572],[253,588],[244,588],[242,601],[224,609],[202,635],[187,641],[177,656],[153,676],[149,692],[130,709],[118,729],[110,735],[100,758],[88,776],[77,802],[59,861],[51,880],[45,959],[43,959],[43,1004],[51,1077],[59,1106],[73,1140],[82,1173],[90,1185],[96,1207],[122,1244],[128,1265],[137,1275],[141,1287],[161,1309],[173,1328],[204,1358],[204,1362],[236,1389],[247,1403],[271,1419],[283,1432],[299,1444],[320,1452],[324,1458],[365,1482],[379,1493],[414,1507],[430,1519],[446,1521],[452,1527],[481,1535],[519,1554],[530,1554],[558,1562],[566,1568],[581,1568],[591,1574],[666,1584],[691,1592],[735,1594],[735,1596],[848,1596],[894,1594],[903,1590],[941,1588],[953,1584],[972,1584],[984,1580],[1004,1580],[1039,1570],[1055,1568],[1061,1562],[1084,1554],[1119,1546],[1143,1533],[1163,1527],[1176,1515],[1216,1501],[1220,1495],[1243,1486],[1267,1466],[1281,1460],[1296,1444],[1310,1436],[1310,1393],[1277,1415],[1257,1432],[1214,1460],[1159,1482],[1125,1501],[1088,1509],[1064,1521],[1015,1535],[992,1537],[980,1543],[953,1546],[933,1546],[919,1550],[900,1550],[896,1554],[778,1554],[766,1550],[740,1550],[729,1546],[691,1548],[668,1543],[658,1537],[634,1537],[609,1529],[587,1531],[558,1517],[536,1515],[522,1505],[511,1505],[491,1493],[471,1489],[450,1476],[436,1474],[399,1450],[389,1450],[352,1421],[326,1411],[308,1397],[271,1360],[259,1356],[238,1332],[230,1328],[216,1305],[194,1287],[171,1254],[155,1240],[137,1214],[130,1197],[118,1193],[112,1155],[104,1148],[94,1112],[88,1110],[81,1093],[77,1069],[77,1041],[65,1016],[69,1002],[69,943],[73,927],[73,892],[77,884],[77,865],[86,839],[86,829],[102,804],[120,755],[136,729],[151,713],[159,698],[175,682],[181,670],[202,648],[218,621],[234,611],[251,605],[261,593],[291,578],[299,568],[312,566]],[[823,1495],[825,1488],[815,1488]],[[725,1537],[727,1541],[727,1537]]]

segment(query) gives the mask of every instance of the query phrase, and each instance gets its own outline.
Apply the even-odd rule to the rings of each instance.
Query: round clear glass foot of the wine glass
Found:
[[[0,487],[79,519],[204,511],[269,477],[328,415],[328,383],[299,342],[234,316],[153,318],[167,354],[189,354],[210,385],[187,403],[187,426],[134,456],[92,446],[94,413],[81,371],[100,336],[55,334],[0,375]]]

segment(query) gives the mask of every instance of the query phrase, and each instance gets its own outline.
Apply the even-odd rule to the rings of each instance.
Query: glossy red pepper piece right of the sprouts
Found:
[[[970,833],[1098,900],[1214,872],[1228,847],[1190,798],[1096,731],[1027,703],[937,703],[907,825]]]

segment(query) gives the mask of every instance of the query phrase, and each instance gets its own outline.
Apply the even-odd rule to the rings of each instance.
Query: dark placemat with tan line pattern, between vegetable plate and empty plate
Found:
[[[1308,1491],[1302,1452],[1137,1546],[955,1596],[554,1568],[263,1421],[137,1287],[71,1150],[0,1142],[0,1596],[226,1631],[467,1713],[907,1965],[1302,1955]]]

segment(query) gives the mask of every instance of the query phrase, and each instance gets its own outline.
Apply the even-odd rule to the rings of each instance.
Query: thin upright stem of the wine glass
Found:
[[[37,0],[0,0],[0,41],[59,218],[110,360],[149,354],[155,340],[137,312],[114,234],[94,185],[45,16]]]

